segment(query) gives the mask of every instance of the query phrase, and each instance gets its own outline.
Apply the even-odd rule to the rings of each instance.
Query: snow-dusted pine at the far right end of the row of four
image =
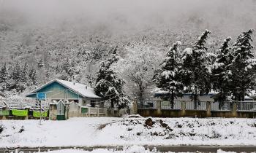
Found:
[[[252,32],[250,29],[240,34],[232,47],[234,59],[230,66],[230,79],[235,101],[244,101],[244,96],[255,87],[256,60],[252,53]]]

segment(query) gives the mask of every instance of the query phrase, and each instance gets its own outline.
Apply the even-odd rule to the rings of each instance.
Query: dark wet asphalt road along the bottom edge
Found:
[[[159,152],[217,152],[218,149],[222,149],[226,152],[256,152],[256,146],[144,146],[146,149],[159,150]],[[20,148],[18,150],[26,152],[45,152],[48,150],[59,150],[59,149],[73,149],[74,147],[41,147],[41,148]],[[122,149],[122,147],[75,147],[76,149],[84,149],[91,151],[93,149]],[[13,152],[15,149],[9,149]],[[8,152],[8,149],[0,149],[0,152]]]

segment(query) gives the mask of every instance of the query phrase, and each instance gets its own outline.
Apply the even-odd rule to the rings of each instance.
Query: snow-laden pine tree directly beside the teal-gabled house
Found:
[[[118,106],[118,109],[121,109],[128,106],[129,99],[124,96],[122,89],[124,81],[118,79],[113,68],[110,68],[110,66],[117,61],[118,56],[116,55],[115,49],[110,55],[110,58],[101,63],[94,90],[95,93],[101,95],[104,100],[109,100],[112,108]]]

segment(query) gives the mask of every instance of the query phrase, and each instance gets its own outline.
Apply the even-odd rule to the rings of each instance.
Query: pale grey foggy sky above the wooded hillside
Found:
[[[0,0],[0,24],[15,28],[66,24],[124,32],[192,23],[226,32],[255,28],[255,16],[255,0]]]

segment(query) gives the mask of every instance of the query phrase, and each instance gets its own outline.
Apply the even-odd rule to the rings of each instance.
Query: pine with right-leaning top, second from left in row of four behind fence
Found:
[[[197,104],[200,105],[199,95],[209,93],[211,90],[210,76],[211,76],[211,55],[206,53],[207,47],[206,39],[211,31],[206,31],[198,37],[195,46],[192,48],[186,48],[183,53],[183,70],[182,77],[183,83],[187,93],[191,93],[191,100],[195,102],[195,108]]]

